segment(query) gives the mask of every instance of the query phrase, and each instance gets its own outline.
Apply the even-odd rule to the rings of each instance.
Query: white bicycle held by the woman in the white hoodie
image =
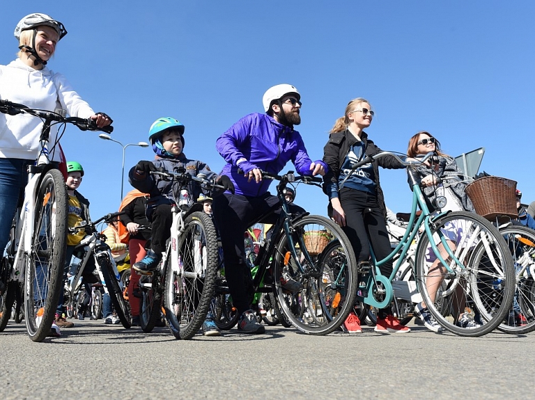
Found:
[[[35,165],[28,166],[24,201],[17,209],[10,242],[0,264],[0,331],[9,319],[15,289],[24,283],[24,314],[30,339],[41,342],[49,334],[63,290],[67,190],[63,175],[51,161],[59,138],[68,123],[82,130],[111,133],[113,127],[98,128],[91,119],[65,118],[60,113],[30,109],[23,104],[0,100],[0,112],[33,115],[43,121]],[[59,125],[55,143],[49,146],[50,129]],[[3,288],[3,289],[1,289]]]

